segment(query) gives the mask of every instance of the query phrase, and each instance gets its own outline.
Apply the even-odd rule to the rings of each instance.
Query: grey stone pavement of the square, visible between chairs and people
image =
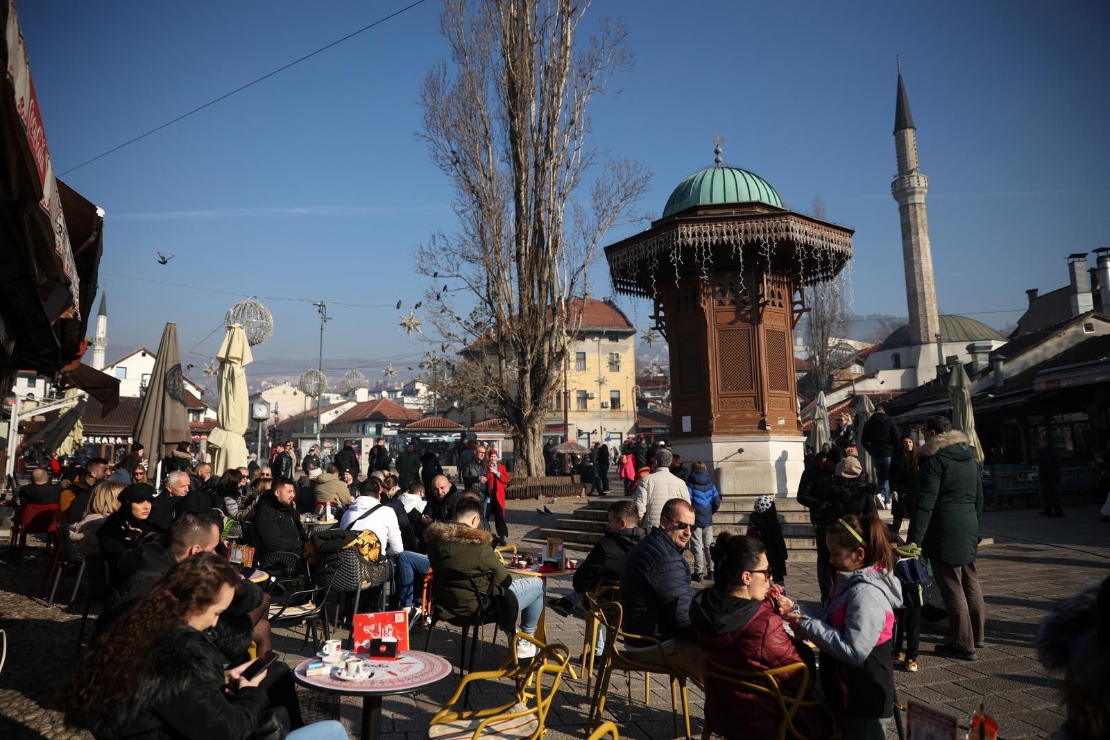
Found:
[[[509,501],[511,539],[524,549],[538,549],[529,540],[555,516],[568,516],[583,499],[557,501]],[[553,514],[543,513],[548,507]],[[537,510],[538,507],[538,510]],[[1098,506],[1074,506],[1064,519],[1043,519],[1036,509],[989,513],[983,534],[996,544],[980,550],[979,572],[989,609],[987,647],[973,663],[932,657],[932,646],[944,627],[922,626],[921,669],[918,673],[896,672],[899,696],[915,697],[960,718],[967,717],[978,697],[999,720],[1000,737],[1048,737],[1062,722],[1057,678],[1037,662],[1032,638],[1037,625],[1060,599],[1110,572],[1110,525],[1098,521]],[[0,672],[0,738],[88,737],[68,730],[50,709],[51,697],[61,677],[73,665],[77,627],[82,597],[75,605],[47,607],[46,558],[41,544],[29,548],[19,566],[0,564],[0,628],[8,633],[8,658]],[[817,596],[813,564],[798,564],[787,575],[789,590],[811,606]],[[569,584],[552,584],[553,591],[568,592]],[[68,596],[69,591],[60,589]],[[577,657],[582,649],[583,622],[547,612],[548,639],[564,642]],[[303,632],[303,630],[302,630]],[[344,636],[341,632],[340,636]],[[423,635],[414,636],[423,647]],[[300,635],[279,630],[275,647],[295,665],[309,655]],[[433,651],[454,659],[458,655],[457,631],[437,629]],[[493,668],[506,655],[504,636],[485,647],[480,668]],[[384,737],[415,740],[425,738],[427,721],[454,688],[451,678],[412,696],[385,700]],[[494,686],[472,696],[475,706],[492,706],[507,698],[511,687]],[[670,738],[669,687],[660,678],[652,681],[650,704],[644,703],[642,677],[632,679],[633,704],[627,704],[628,686],[614,676],[606,713],[620,727],[623,737]],[[322,719],[336,711],[333,700],[302,691],[306,719]],[[690,689],[690,714],[695,737],[702,731],[703,696]],[[360,706],[355,699],[340,702],[342,720],[357,737]],[[584,681],[566,681],[548,716],[551,740],[583,738],[589,701]],[[629,719],[630,713],[630,719]],[[892,728],[892,726],[891,726]],[[891,736],[894,734],[891,730]]]

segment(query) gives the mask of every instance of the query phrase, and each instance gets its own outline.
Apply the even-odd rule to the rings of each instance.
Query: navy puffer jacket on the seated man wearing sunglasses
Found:
[[[633,635],[670,640],[695,639],[690,627],[690,569],[682,551],[658,527],[653,527],[628,551],[620,571],[622,629]],[[646,647],[628,640],[630,647]]]

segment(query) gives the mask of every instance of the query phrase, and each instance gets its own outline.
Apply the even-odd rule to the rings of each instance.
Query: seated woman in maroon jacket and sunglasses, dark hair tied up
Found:
[[[740,671],[765,671],[809,662],[809,685],[804,699],[811,701],[813,661],[803,660],[783,628],[780,615],[789,612],[791,605],[771,584],[763,544],[750,537],[724,533],[717,537],[713,559],[714,587],[699,591],[690,605],[690,620],[702,650],[715,662]],[[800,671],[791,671],[778,676],[777,680],[783,696],[794,697],[803,678]],[[781,721],[774,698],[725,681],[706,681],[705,722],[715,734],[727,740],[773,738]],[[833,734],[831,717],[821,707],[798,709],[794,727],[809,739]]]

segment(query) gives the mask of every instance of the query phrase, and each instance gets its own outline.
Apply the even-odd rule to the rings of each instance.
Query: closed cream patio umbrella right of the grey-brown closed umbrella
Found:
[[[244,367],[254,358],[246,342],[246,332],[240,324],[228,327],[220,352],[220,373],[216,376],[215,409],[216,426],[209,433],[209,447],[215,447],[212,455],[212,472],[223,475],[230,468],[246,466],[246,443],[243,433],[250,424],[250,392],[246,389]]]

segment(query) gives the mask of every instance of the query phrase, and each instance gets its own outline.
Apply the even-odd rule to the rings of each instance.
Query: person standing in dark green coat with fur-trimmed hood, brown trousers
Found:
[[[934,582],[948,612],[948,640],[938,655],[978,660],[987,607],[979,588],[976,557],[982,517],[979,466],[962,432],[944,416],[925,420],[914,515],[907,541],[921,546],[932,565]]]

